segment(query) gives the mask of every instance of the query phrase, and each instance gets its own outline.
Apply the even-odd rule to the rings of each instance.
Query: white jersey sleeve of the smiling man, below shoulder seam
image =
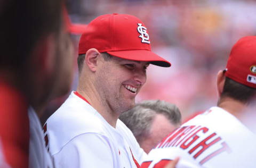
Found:
[[[53,155],[55,168],[113,168],[113,149],[105,136],[84,133],[73,138],[59,153]]]

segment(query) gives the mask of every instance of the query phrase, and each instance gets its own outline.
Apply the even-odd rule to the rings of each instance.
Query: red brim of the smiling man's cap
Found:
[[[170,62],[164,60],[164,58],[158,56],[157,54],[147,50],[114,51],[107,53],[113,56],[124,58],[126,60],[147,61],[150,62],[150,64],[162,67],[171,66]]]

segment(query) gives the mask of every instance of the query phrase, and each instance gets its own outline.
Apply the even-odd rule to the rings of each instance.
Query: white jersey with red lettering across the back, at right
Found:
[[[180,156],[180,167],[256,167],[256,136],[220,107],[197,115],[152,149],[141,168],[163,167]]]

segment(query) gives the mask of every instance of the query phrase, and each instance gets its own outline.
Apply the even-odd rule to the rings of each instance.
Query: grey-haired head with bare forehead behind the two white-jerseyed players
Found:
[[[119,119],[132,131],[147,154],[181,124],[179,108],[164,100],[140,102],[122,113]]]

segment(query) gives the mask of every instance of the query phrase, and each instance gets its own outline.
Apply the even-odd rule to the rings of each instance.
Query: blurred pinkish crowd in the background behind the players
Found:
[[[172,66],[149,66],[137,102],[161,99],[174,103],[183,120],[216,105],[215,78],[226,68],[231,46],[243,36],[256,34],[254,0],[69,0],[67,8],[73,23],[88,24],[107,13],[140,18],[149,30],[152,51]],[[73,39],[77,49],[79,36]],[[75,52],[71,90],[76,90],[78,78]],[[53,100],[41,120],[57,110],[67,96]]]

